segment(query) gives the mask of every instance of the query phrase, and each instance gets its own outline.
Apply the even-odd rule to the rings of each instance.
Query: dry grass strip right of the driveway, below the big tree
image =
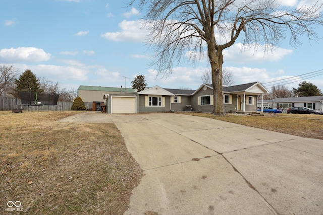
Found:
[[[244,116],[228,114],[225,116],[215,116],[209,113],[195,112],[183,112],[182,114],[208,117],[302,137],[323,139],[323,115],[265,114],[265,116]]]

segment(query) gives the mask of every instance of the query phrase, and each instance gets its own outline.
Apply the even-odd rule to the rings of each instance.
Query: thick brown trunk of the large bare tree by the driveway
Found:
[[[212,88],[213,88],[213,111],[212,114],[223,115],[223,91],[222,91],[222,47],[217,49],[212,45],[208,46],[208,56],[211,64]]]

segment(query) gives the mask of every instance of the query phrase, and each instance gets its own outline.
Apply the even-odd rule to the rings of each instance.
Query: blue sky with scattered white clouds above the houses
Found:
[[[126,8],[124,2],[1,0],[0,63],[14,65],[20,73],[31,69],[38,78],[59,82],[66,89],[80,85],[129,88],[140,74],[148,87],[197,89],[207,59],[195,67],[176,66],[168,78],[156,77],[148,65],[151,50],[144,45],[148,31],[139,22],[143,14]],[[282,4],[298,7],[313,2],[286,0]],[[323,29],[317,33],[323,37]],[[225,50],[223,67],[231,71],[235,84],[267,83],[323,69],[323,40],[301,40],[303,44],[296,49],[286,40],[273,52],[264,53],[261,48],[241,51],[238,38]],[[297,88],[304,78],[287,87]],[[323,91],[323,74],[303,81]]]

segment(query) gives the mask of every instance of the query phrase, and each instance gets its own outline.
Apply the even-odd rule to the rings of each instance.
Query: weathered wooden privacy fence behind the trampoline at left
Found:
[[[57,102],[57,105],[22,105],[21,100],[0,96],[0,111],[22,109],[26,111],[64,111],[71,110],[73,102]],[[85,108],[92,108],[92,102],[84,102]]]

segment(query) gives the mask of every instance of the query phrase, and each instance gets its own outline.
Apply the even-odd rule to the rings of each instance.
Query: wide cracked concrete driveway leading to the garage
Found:
[[[103,115],[145,174],[125,214],[323,214],[322,140],[174,113]]]

